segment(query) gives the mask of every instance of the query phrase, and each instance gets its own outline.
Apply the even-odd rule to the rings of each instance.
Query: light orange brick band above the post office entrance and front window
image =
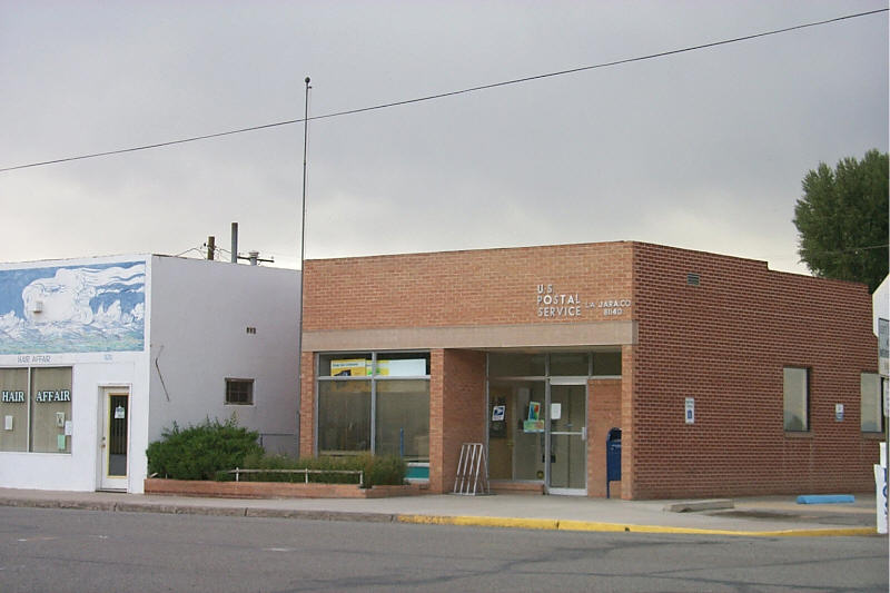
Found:
[[[306,261],[304,330],[600,320],[538,317],[540,284],[582,299],[626,298],[630,243],[445,251]],[[633,307],[621,319],[633,317]]]

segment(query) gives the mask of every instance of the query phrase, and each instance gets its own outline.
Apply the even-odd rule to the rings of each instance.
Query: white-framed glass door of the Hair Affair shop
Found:
[[[127,490],[130,393],[126,388],[102,393],[101,490]]]

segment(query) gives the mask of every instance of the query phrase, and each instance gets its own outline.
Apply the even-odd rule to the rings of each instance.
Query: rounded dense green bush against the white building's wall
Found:
[[[248,455],[259,456],[259,433],[238,426],[235,416],[225,423],[209,418],[180,429],[174,423],[161,439],[151,443],[148,473],[174,480],[214,480],[217,472],[243,466]]]

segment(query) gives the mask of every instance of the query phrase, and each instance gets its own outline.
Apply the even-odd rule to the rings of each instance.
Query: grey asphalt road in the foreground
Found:
[[[886,537],[0,507],[0,591],[888,591]]]

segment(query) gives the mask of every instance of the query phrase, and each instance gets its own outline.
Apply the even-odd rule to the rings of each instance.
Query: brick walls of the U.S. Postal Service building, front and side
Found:
[[[589,495],[605,495],[612,427],[623,433],[613,496],[871,485],[878,446],[859,428],[859,383],[877,370],[877,340],[864,286],[639,243],[312,260],[304,286],[303,454],[315,451],[315,352],[429,352],[429,490],[448,492],[461,443],[486,438],[486,352],[610,347],[621,378],[587,389]],[[809,433],[783,431],[784,366],[811,369]]]

